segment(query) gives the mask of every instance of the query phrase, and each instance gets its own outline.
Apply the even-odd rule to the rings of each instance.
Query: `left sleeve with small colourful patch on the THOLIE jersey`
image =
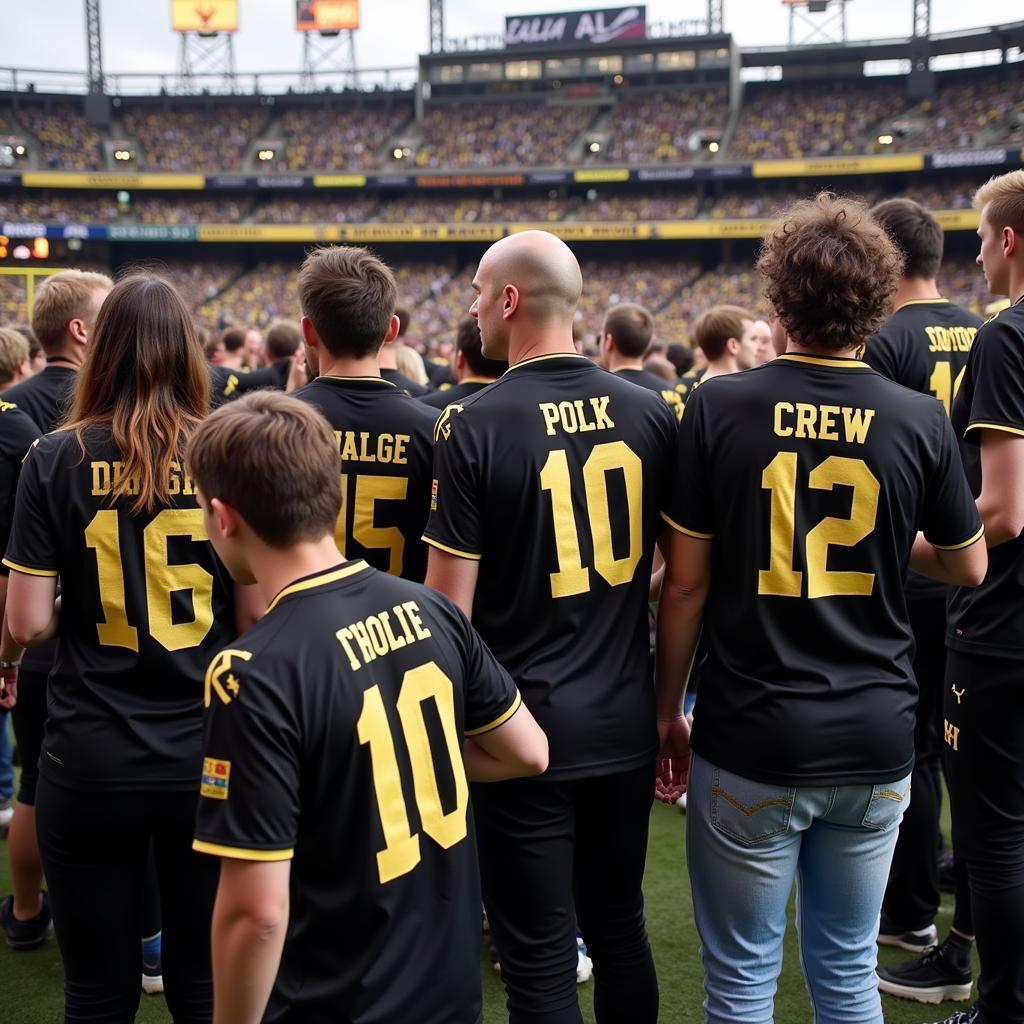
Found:
[[[281,680],[221,651],[206,674],[203,775],[193,849],[289,860],[299,821],[299,735]]]

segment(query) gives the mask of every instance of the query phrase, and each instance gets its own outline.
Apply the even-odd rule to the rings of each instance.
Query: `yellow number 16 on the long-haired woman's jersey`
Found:
[[[167,650],[198,647],[213,625],[213,577],[196,563],[172,565],[167,541],[187,537],[206,541],[199,509],[164,509],[142,530],[145,559],[145,613],[150,636]],[[121,531],[116,509],[101,509],[85,527],[85,544],[96,552],[99,605],[103,621],[96,634],[104,647],[138,650],[138,628],[128,622],[125,573],[121,561]],[[176,623],[171,616],[171,594],[191,591],[193,620]]]

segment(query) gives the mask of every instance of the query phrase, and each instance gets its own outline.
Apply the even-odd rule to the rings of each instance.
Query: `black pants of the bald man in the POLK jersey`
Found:
[[[577,781],[474,787],[483,901],[511,1024],[578,1024],[575,924],[599,1024],[653,1024],[643,915],[653,765]]]

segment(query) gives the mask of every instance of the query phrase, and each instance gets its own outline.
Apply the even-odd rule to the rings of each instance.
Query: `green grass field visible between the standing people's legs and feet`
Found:
[[[685,819],[675,808],[657,805],[651,812],[650,852],[647,858],[647,924],[662,987],[660,1020],[693,1022],[700,1019],[703,997],[697,935],[693,925],[686,861],[683,851]],[[609,827],[614,827],[609,822]],[[6,841],[0,842],[0,893],[10,891]],[[951,897],[943,901],[939,932],[948,931]],[[883,963],[895,963],[908,954],[900,950],[881,951]],[[484,1021],[498,1024],[505,1017],[505,995],[489,964],[482,966]],[[977,965],[975,965],[977,977]],[[15,953],[0,945],[0,1019],[4,1024],[53,1024],[61,1019],[60,955],[51,938],[39,950]],[[593,984],[580,987],[584,1020],[593,1021]],[[890,1024],[922,1024],[945,1017],[954,1006],[924,1007],[915,1002],[883,997]],[[964,1005],[959,1005],[964,1006]],[[137,1020],[145,1024],[168,1024],[170,1015],[162,996],[142,996]],[[791,926],[785,944],[785,961],[775,1002],[775,1019],[780,1024],[810,1022],[811,1011],[797,956],[796,932]]]

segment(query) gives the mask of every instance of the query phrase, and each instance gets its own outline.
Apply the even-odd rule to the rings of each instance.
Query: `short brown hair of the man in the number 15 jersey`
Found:
[[[382,260],[357,246],[314,249],[298,284],[302,312],[332,355],[361,358],[380,349],[398,295]]]

